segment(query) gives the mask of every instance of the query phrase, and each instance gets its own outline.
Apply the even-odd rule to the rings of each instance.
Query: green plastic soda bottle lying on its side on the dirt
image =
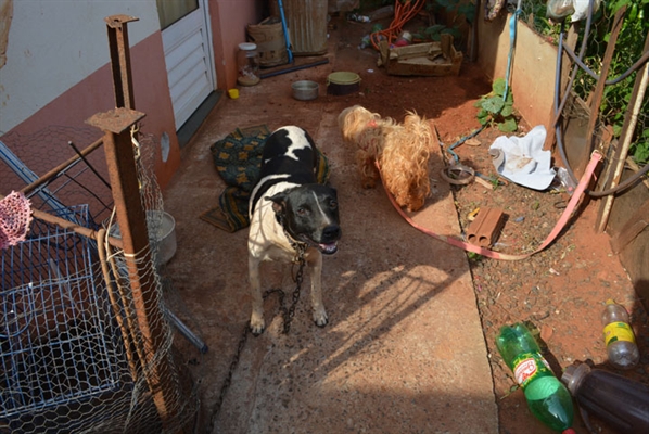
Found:
[[[574,433],[570,392],[550,370],[530,330],[520,322],[504,326],[496,346],[525,393],[530,411],[555,431]]]

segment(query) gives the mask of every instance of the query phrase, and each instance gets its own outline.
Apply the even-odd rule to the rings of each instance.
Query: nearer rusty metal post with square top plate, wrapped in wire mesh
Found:
[[[130,137],[130,128],[143,117],[143,113],[120,107],[98,113],[87,123],[104,131],[103,142],[117,222],[122,233],[137,324],[142,336],[142,342],[137,344],[142,346],[143,357],[140,363],[158,416],[163,423],[166,423],[177,411],[173,381],[175,371],[166,358],[156,357],[164,350],[166,322],[158,305],[156,282],[151,277],[147,218],[140,200]]]

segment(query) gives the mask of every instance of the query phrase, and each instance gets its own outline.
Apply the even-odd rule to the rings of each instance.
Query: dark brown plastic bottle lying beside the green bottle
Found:
[[[586,362],[561,376],[583,410],[621,434],[649,433],[649,387]]]

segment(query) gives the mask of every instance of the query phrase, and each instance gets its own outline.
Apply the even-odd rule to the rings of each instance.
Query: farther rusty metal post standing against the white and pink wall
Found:
[[[130,47],[128,46],[127,23],[139,18],[129,15],[111,15],[104,21],[109,29],[109,49],[115,88],[115,106],[136,108],[133,84],[130,74]]]

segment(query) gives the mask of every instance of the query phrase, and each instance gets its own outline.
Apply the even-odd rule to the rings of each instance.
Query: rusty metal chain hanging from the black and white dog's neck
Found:
[[[264,293],[264,301],[266,298],[268,298],[268,296],[270,296],[270,294],[277,294],[279,297],[279,310],[282,312],[282,318],[284,320],[284,328],[282,330],[283,334],[289,334],[289,331],[291,330],[291,322],[293,321],[293,317],[295,316],[295,307],[297,306],[297,302],[300,301],[300,290],[302,288],[302,281],[304,280],[304,266],[306,264],[306,260],[304,259],[304,254],[306,252],[306,245],[295,244],[295,245],[293,245],[293,247],[297,252],[297,254],[295,256],[295,261],[297,264],[300,264],[300,267],[297,268],[297,272],[295,273],[295,277],[293,278],[293,281],[295,282],[295,290],[293,290],[293,299],[291,301],[291,307],[287,309],[287,307],[284,306],[284,295],[285,294],[281,289],[275,288],[275,289],[266,290],[266,292]],[[250,332],[251,332],[251,329],[250,329],[249,324],[245,324],[245,327],[243,328],[243,333],[241,334],[241,337],[239,339],[239,344],[237,345],[237,353],[234,353],[234,356],[232,357],[232,361],[230,362],[230,368],[228,369],[228,375],[226,376],[226,380],[224,380],[224,384],[221,385],[220,393],[218,395],[216,403],[214,403],[214,407],[212,410],[212,418],[209,419],[209,430],[207,431],[207,434],[212,434],[214,432],[214,425],[216,424],[216,417],[218,416],[218,412],[220,411],[220,407],[222,406],[224,400],[226,398],[226,394],[228,393],[228,390],[230,388],[230,385],[232,384],[232,376],[234,375],[234,370],[237,369],[237,366],[239,365],[239,359],[241,358],[241,353],[243,353],[243,347],[245,346],[245,343],[247,341],[247,336],[249,336]]]

